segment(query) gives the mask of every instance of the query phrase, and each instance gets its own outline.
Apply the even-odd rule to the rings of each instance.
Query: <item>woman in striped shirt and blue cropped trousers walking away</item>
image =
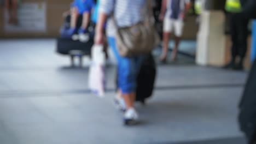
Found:
[[[114,20],[115,28],[131,27],[141,23],[144,19],[143,9],[147,8],[147,0],[102,0],[100,17],[96,26],[95,44],[103,43],[104,24],[108,17]],[[107,31],[114,31],[109,29]],[[138,113],[134,103],[136,98],[136,76],[144,55],[124,57],[118,51],[117,35],[108,35],[108,43],[118,60],[118,87],[121,97],[125,101],[124,124],[133,125],[138,121]]]

